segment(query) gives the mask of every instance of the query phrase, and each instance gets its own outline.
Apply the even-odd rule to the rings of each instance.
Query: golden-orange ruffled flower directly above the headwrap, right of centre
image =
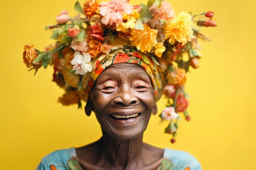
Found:
[[[151,51],[152,47],[157,44],[157,30],[150,29],[147,24],[144,24],[144,30],[135,30],[131,31],[131,36],[128,36],[131,45],[136,46],[137,50],[140,50],[144,53]]]

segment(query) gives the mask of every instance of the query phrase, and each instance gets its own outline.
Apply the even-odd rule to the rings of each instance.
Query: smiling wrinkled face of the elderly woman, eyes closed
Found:
[[[141,135],[157,112],[154,90],[137,64],[113,64],[101,73],[90,94],[102,129],[117,139]]]

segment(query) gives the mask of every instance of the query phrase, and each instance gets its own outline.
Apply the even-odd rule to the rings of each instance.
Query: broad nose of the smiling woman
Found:
[[[129,106],[130,104],[136,104],[138,102],[137,97],[135,97],[131,91],[123,91],[119,93],[113,102],[120,106]]]

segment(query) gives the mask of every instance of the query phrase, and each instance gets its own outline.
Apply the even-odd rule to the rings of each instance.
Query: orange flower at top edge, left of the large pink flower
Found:
[[[99,1],[98,0],[86,0],[83,4],[83,13],[91,18],[95,14],[99,14]]]

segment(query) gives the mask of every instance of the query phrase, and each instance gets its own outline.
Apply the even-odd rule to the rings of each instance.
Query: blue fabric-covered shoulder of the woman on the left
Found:
[[[74,148],[56,150],[45,156],[36,170],[68,170],[67,161],[76,157]]]

